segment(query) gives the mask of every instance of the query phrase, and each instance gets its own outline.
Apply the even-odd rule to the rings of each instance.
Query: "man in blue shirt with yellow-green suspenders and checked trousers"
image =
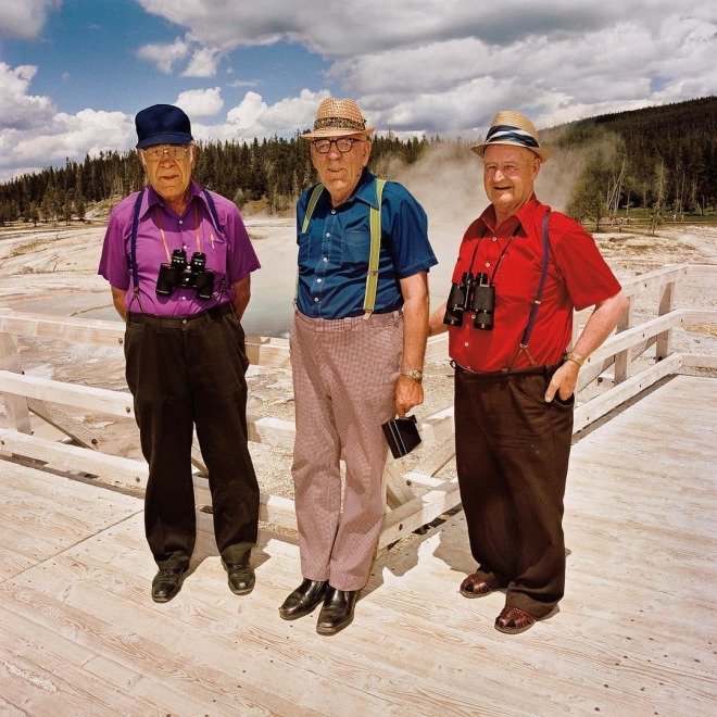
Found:
[[[279,614],[295,619],[323,603],[319,634],[351,622],[368,580],[385,511],[381,425],[424,400],[428,269],[438,262],[423,207],[368,172],[373,131],[353,100],[329,98],[302,135],[322,181],[297,206],[292,474],[303,581]],[[375,299],[372,214],[380,216]]]

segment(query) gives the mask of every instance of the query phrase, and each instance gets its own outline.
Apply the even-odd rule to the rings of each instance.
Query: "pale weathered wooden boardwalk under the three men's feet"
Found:
[[[577,440],[561,611],[521,636],[463,599],[462,513],[383,552],[354,624],[281,620],[294,543],[226,587],[202,533],[154,604],[140,500],[0,462],[0,714],[717,714],[717,380],[677,376]]]

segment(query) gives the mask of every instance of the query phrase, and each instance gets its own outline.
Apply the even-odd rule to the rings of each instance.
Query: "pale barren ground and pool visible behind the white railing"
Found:
[[[252,304],[247,315],[249,334],[281,334],[290,323],[294,282],[295,243],[291,219],[256,218],[247,222],[264,268],[255,274],[252,284]],[[59,316],[91,316],[116,318],[111,309],[110,291],[97,275],[103,223],[85,227],[10,228],[0,230],[0,310],[13,309]],[[448,238],[446,238],[448,237]],[[670,226],[652,237],[636,231],[596,235],[603,254],[618,278],[627,279],[669,264],[717,264],[717,227]],[[432,236],[439,259],[453,255],[455,232]],[[450,244],[450,246],[449,246]],[[431,288],[438,293],[432,304],[442,301],[450,281],[452,266],[445,264],[431,273]],[[448,277],[448,278],[446,278]],[[656,297],[640,299],[636,319],[655,315]],[[705,286],[704,279],[680,282],[676,303],[680,307],[715,309],[717,292]],[[262,331],[265,325],[272,331]],[[714,326],[692,327],[693,331],[676,330],[676,350],[694,353],[716,353],[717,331]],[[67,345],[56,341],[20,340],[23,367],[26,374],[54,378],[113,390],[126,390],[122,350]],[[644,357],[650,362],[654,358]],[[453,381],[448,358],[426,367],[426,402],[415,413],[425,418],[452,403]],[[293,398],[289,370],[251,366],[248,373],[249,413],[293,420]],[[584,400],[580,397],[580,400]],[[75,417],[99,438],[100,450],[127,457],[140,457],[137,428],[133,420],[108,416]],[[0,404],[0,427],[4,422],[4,406]],[[37,435],[59,438],[58,431],[36,420]],[[262,490],[291,496],[290,451],[252,444]],[[419,460],[412,454],[403,462],[403,469]]]

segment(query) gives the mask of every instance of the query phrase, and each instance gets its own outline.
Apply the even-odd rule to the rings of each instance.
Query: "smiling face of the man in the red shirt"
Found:
[[[500,224],[532,197],[540,160],[525,147],[489,144],[483,152],[483,187]]]

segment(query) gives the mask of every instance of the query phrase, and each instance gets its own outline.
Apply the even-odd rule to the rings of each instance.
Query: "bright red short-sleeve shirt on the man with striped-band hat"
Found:
[[[478,372],[507,368],[516,357],[538,294],[542,269],[542,222],[549,206],[533,197],[495,227],[489,206],[467,229],[453,271],[460,282],[464,272],[486,273],[495,287],[493,329],[474,327],[474,313],[465,312],[461,327],[449,327],[449,353],[458,365]],[[551,212],[550,262],[528,350],[538,365],[556,364],[569,345],[573,311],[614,297],[620,290],[593,238],[574,219]],[[514,368],[530,366],[520,352]]]

